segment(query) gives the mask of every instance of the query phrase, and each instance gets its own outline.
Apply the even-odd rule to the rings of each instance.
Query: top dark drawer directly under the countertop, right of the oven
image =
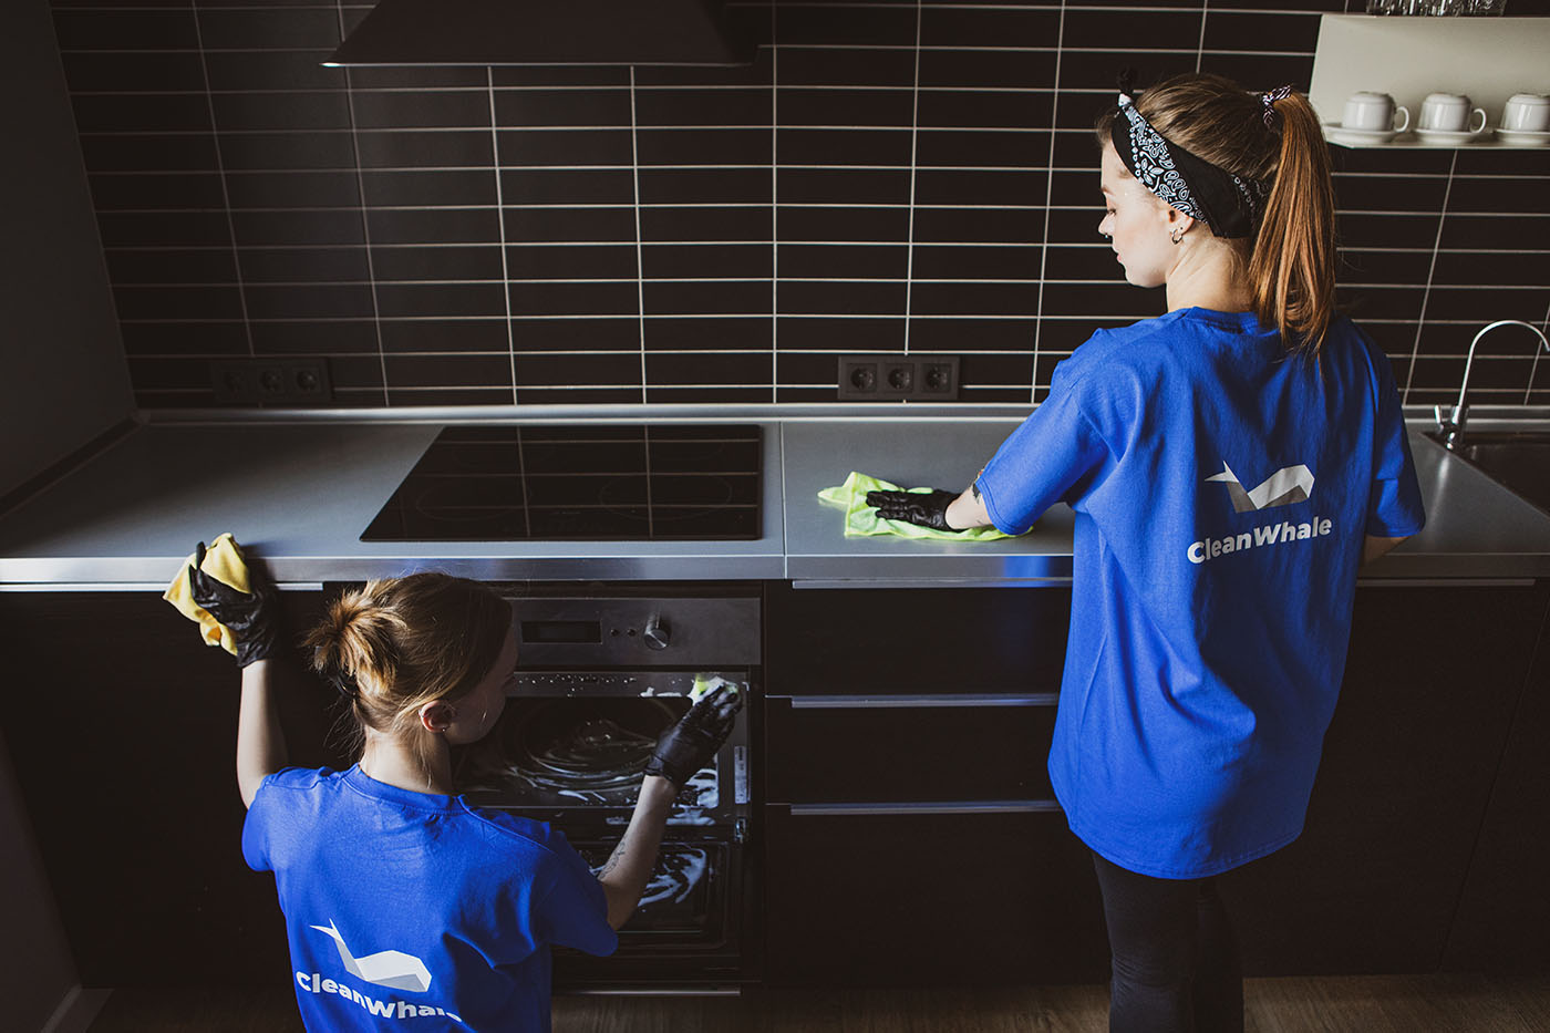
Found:
[[[773,695],[1056,692],[1068,588],[794,589],[766,599]]]

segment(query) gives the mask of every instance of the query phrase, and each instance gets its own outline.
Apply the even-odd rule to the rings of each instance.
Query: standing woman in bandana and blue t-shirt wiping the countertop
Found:
[[[1076,512],[1049,777],[1104,893],[1110,1025],[1242,1030],[1214,878],[1302,831],[1356,569],[1424,513],[1389,360],[1335,312],[1307,98],[1122,87],[1097,136],[1097,230],[1167,312],[1060,363],[963,495],[870,501],[1008,534]]]

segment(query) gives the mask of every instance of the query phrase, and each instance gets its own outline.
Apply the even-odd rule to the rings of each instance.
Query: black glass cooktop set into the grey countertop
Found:
[[[448,427],[364,541],[760,537],[758,427]]]

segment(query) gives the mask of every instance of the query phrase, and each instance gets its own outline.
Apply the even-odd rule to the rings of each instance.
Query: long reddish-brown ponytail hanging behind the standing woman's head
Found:
[[[1265,219],[1249,257],[1260,324],[1280,329],[1286,351],[1318,357],[1335,318],[1335,185],[1313,105],[1300,93],[1276,102],[1280,154]]]

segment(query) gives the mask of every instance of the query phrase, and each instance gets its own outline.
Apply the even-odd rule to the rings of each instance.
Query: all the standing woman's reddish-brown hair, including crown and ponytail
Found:
[[[1319,118],[1300,93],[1265,104],[1231,79],[1186,74],[1136,96],[1136,110],[1173,146],[1242,178],[1271,185],[1259,234],[1242,242],[1260,323],[1286,349],[1318,355],[1335,318],[1335,181]],[[1097,121],[1108,143],[1118,110]],[[1240,244],[1240,242],[1234,242]]]

